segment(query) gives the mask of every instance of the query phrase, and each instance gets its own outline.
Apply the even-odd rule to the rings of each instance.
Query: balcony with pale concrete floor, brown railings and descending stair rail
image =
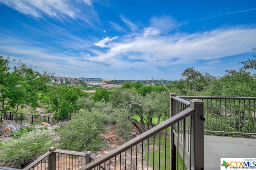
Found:
[[[50,148],[24,170],[216,170],[220,158],[255,158],[255,148],[256,97],[171,93],[170,119],[102,157]]]

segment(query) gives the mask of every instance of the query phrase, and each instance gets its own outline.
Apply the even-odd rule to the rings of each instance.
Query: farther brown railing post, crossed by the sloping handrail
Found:
[[[170,93],[170,117],[175,113],[175,102],[172,97],[176,97],[175,93]],[[170,170],[176,169],[176,146],[174,144],[173,126],[170,127]]]

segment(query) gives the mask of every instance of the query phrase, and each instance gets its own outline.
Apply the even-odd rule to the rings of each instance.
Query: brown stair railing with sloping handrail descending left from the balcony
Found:
[[[204,169],[204,103],[170,94],[170,119],[100,158],[50,148],[24,170]]]

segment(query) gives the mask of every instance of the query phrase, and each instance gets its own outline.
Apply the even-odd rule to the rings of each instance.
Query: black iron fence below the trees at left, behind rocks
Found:
[[[71,115],[68,116],[66,120],[70,120]],[[22,124],[22,123],[56,123],[61,119],[59,117],[51,117],[51,116],[42,116],[42,115],[31,115],[25,113],[12,113],[6,112],[4,115],[1,116],[0,123],[3,123],[4,120],[11,120],[15,123]]]

